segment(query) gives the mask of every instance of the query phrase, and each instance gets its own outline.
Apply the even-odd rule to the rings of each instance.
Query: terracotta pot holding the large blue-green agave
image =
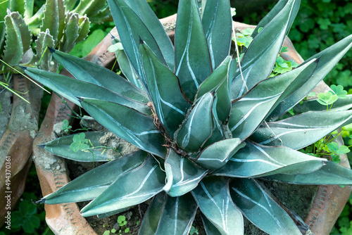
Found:
[[[161,23],[171,39],[173,39],[175,33],[175,22],[176,15],[161,20]],[[246,27],[253,26],[236,23],[235,27],[239,30],[244,30]],[[116,30],[112,30],[111,34],[117,36]],[[107,51],[110,44],[111,36],[108,35],[86,59],[106,66],[108,63],[115,60],[115,55]],[[289,52],[282,55],[285,59],[294,60],[296,63],[303,62],[301,56],[298,55],[289,39],[286,40],[285,46],[289,46]],[[315,91],[320,92],[327,89],[329,89],[327,85],[321,82],[315,88]],[[74,108],[73,104],[70,102],[68,102],[68,106]],[[53,95],[42,127],[37,134],[37,138],[34,140],[34,163],[37,167],[43,195],[52,193],[69,182],[68,168],[63,158],[58,158],[37,146],[50,141],[54,124],[68,119],[70,113],[70,109],[61,102],[61,99]],[[342,140],[339,139],[339,141]],[[341,144],[341,142],[339,144]],[[346,155],[341,155],[340,158],[340,164],[349,167]],[[306,188],[303,188],[303,190],[304,189]],[[312,189],[312,186],[310,186],[310,189]],[[313,186],[313,189],[315,190],[313,192],[315,196],[310,197],[307,205],[303,205],[305,208],[310,208],[308,216],[304,215],[306,216],[305,222],[309,225],[314,234],[329,234],[329,231],[334,226],[337,217],[339,217],[339,214],[348,200],[351,188],[341,188],[340,186]],[[291,190],[288,189],[288,192],[291,193]],[[285,204],[285,202],[283,203]],[[80,210],[76,203],[45,205],[45,210],[46,222],[55,234],[96,234],[87,223],[87,220],[80,215]],[[260,234],[260,232],[258,234]]]

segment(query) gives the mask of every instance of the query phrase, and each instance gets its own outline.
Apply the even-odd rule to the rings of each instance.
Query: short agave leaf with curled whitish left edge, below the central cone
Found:
[[[170,148],[165,160],[165,172],[168,182],[163,190],[170,196],[181,196],[194,189],[208,170],[197,166]]]

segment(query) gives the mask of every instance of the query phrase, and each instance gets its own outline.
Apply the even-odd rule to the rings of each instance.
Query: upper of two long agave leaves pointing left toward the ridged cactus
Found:
[[[51,49],[51,53],[53,53],[56,61],[61,63],[77,80],[96,84],[135,101],[142,103],[149,101],[144,91],[134,87],[130,82],[111,70],[58,50]]]

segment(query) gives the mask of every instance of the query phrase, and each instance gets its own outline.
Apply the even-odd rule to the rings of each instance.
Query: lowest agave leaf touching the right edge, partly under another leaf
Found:
[[[290,184],[344,184],[352,185],[352,171],[346,167],[326,162],[322,168],[308,174],[274,174],[268,178]]]

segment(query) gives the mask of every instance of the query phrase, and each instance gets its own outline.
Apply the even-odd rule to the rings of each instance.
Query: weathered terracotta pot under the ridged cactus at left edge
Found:
[[[0,227],[4,224],[5,215],[9,211],[8,202],[11,201],[12,209],[25,187],[27,172],[32,163],[30,155],[33,139],[38,129],[43,94],[42,89],[19,74],[13,75],[13,89],[27,92],[20,96],[30,103],[26,103],[18,96],[13,96],[11,116],[0,139]],[[6,184],[6,179],[8,179],[6,173],[11,173],[9,184]],[[8,195],[11,195],[11,200],[4,200]]]

